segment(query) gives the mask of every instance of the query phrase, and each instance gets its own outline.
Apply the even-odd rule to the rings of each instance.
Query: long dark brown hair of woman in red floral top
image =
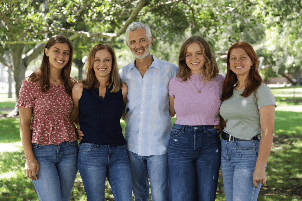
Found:
[[[69,46],[69,60],[61,71],[61,77],[63,79],[63,83],[64,83],[63,85],[66,93],[71,95],[73,85],[70,80],[70,71],[72,65],[73,48],[70,40],[66,36],[62,36],[62,35],[55,35],[51,37],[47,41],[45,48],[50,49],[50,47],[52,47],[56,43],[66,43]],[[46,56],[45,53],[45,48],[44,48],[43,59],[40,68],[37,69],[35,72],[33,72],[28,78],[30,81],[40,81],[42,92],[47,92],[50,88],[50,81],[49,81],[50,64],[49,64],[48,57]]]

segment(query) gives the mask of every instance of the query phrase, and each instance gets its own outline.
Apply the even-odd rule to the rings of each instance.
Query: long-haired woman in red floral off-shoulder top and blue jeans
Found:
[[[19,93],[25,174],[40,200],[68,200],[78,171],[78,138],[70,119],[72,55],[67,37],[51,37],[40,68],[23,80]]]

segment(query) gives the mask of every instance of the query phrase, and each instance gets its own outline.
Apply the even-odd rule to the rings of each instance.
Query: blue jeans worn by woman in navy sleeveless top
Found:
[[[78,168],[87,200],[105,200],[108,178],[115,201],[132,201],[131,171],[125,145],[82,143]]]

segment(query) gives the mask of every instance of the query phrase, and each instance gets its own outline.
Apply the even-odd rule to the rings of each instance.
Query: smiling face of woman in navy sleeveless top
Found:
[[[96,77],[110,77],[112,56],[106,49],[100,49],[95,53],[93,70]]]

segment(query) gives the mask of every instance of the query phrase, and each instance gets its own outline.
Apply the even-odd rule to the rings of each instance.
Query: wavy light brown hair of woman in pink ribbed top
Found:
[[[186,52],[188,46],[192,43],[198,43],[201,47],[205,59],[204,80],[210,81],[211,79],[216,77],[216,75],[219,73],[219,69],[216,60],[212,55],[209,43],[200,36],[191,36],[182,44],[178,59],[178,74],[176,76],[178,78],[181,78],[183,81],[187,81],[191,76],[191,69],[189,69],[188,65],[186,64]]]

